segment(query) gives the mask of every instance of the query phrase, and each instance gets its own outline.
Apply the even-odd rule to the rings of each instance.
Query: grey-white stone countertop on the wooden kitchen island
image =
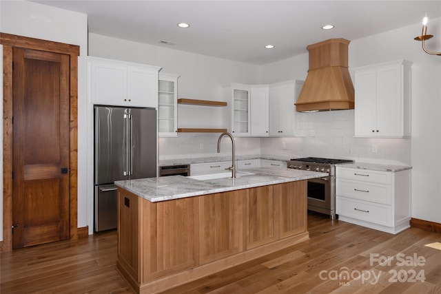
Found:
[[[120,180],[116,181],[115,185],[150,202],[159,202],[328,176],[327,173],[316,171],[280,169],[278,167],[260,167],[240,171],[252,174],[239,176],[238,178],[217,178],[212,180],[196,180],[185,176],[166,176]]]

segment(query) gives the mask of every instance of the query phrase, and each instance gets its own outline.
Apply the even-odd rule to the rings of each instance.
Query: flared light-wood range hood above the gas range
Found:
[[[309,45],[309,70],[296,103],[297,112],[353,109],[354,90],[348,70],[346,39]]]

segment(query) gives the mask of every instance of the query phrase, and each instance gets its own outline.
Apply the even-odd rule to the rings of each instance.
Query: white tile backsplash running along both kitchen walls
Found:
[[[297,115],[297,114],[296,114]],[[357,162],[411,164],[410,138],[354,138],[354,111],[339,110],[296,116],[294,138],[235,138],[236,154],[300,158],[307,156],[349,158]],[[228,156],[229,138],[219,134],[179,134],[178,138],[159,138],[159,160]]]

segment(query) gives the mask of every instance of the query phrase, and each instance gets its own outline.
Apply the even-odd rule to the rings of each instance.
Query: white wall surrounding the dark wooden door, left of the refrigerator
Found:
[[[80,46],[80,56],[86,56],[88,50],[87,15],[68,10],[61,10],[28,1],[0,1],[0,30],[8,34],[29,36],[48,41],[57,41]],[[3,61],[3,54],[0,55]],[[1,68],[3,66],[1,65]],[[83,59],[79,59],[79,126],[78,126],[78,226],[87,224],[85,193],[85,98],[87,71]],[[1,83],[3,85],[3,83]],[[3,87],[1,87],[3,100]],[[0,103],[0,116],[3,120],[3,103]],[[2,124],[3,125],[3,124]],[[3,132],[2,132],[3,134]],[[1,140],[1,139],[0,139]],[[0,157],[3,158],[0,149]],[[3,174],[3,173],[2,173]],[[1,180],[2,181],[2,180]],[[1,182],[1,187],[3,183]],[[3,189],[1,189],[3,191]],[[3,193],[0,196],[3,203]],[[0,204],[1,207],[1,204]],[[3,209],[0,209],[0,240],[3,240]]]

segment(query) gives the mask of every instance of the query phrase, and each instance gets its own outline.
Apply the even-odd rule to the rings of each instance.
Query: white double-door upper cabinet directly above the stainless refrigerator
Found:
[[[156,108],[160,69],[156,66],[89,57],[90,99],[98,105]]]

